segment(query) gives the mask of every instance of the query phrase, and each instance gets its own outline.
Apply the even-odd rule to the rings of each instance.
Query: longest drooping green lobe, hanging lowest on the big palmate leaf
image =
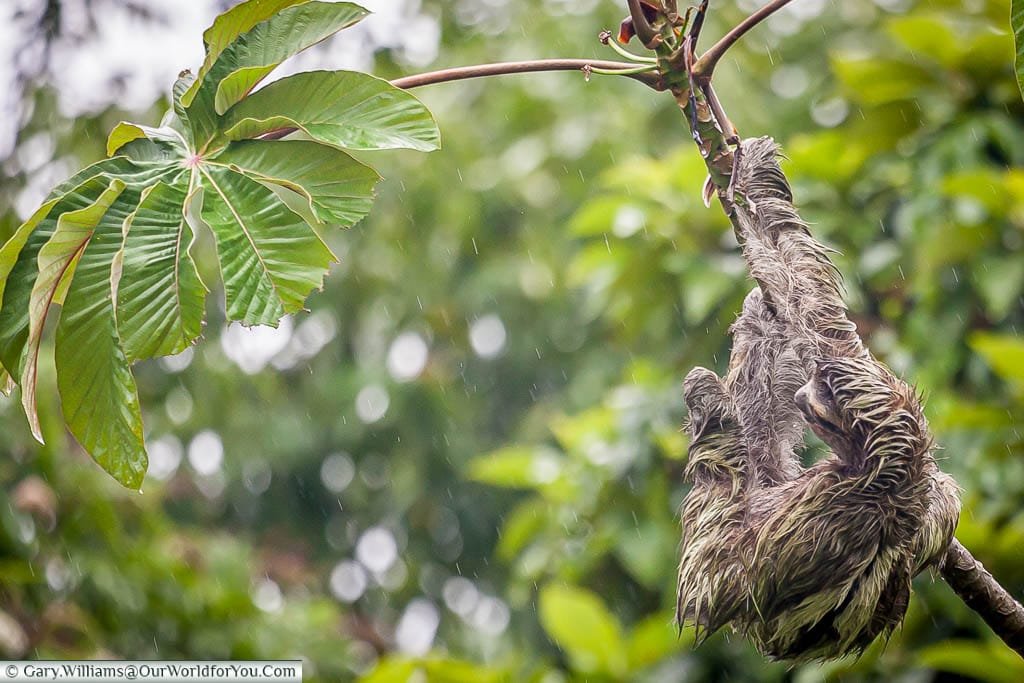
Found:
[[[139,191],[126,189],[103,214],[79,258],[60,322],[55,358],[65,420],[75,438],[123,485],[138,488],[148,460],[135,379],[114,314],[112,264]]]

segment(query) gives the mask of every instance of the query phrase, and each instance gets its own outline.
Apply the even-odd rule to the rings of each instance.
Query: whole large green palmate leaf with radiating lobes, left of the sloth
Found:
[[[147,461],[131,364],[180,352],[202,332],[194,226],[213,234],[228,319],[276,325],[335,260],[317,228],[352,225],[373,203],[380,176],[339,147],[437,146],[430,113],[365,74],[293,76],[249,94],[281,60],[365,14],[315,0],[250,0],[222,14],[198,78],[177,79],[161,125],[118,124],[116,156],[60,183],[0,247],[0,390],[18,380],[37,438],[42,334],[61,304],[65,420],[103,469],[138,487]],[[282,121],[313,140],[231,140]]]

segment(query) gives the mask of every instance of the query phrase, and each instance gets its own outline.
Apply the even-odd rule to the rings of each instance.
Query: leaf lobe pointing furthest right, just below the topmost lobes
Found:
[[[231,140],[297,128],[349,150],[436,150],[430,112],[387,81],[348,71],[296,74],[257,90],[224,116]]]

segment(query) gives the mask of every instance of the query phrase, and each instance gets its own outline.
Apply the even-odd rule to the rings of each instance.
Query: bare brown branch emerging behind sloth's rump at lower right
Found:
[[[1002,641],[1024,656],[1024,606],[953,539],[939,567],[949,588],[978,612]]]

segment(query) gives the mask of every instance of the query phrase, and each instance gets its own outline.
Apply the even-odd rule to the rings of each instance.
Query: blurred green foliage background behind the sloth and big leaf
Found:
[[[709,36],[758,3],[716,4]],[[622,5],[403,6],[437,22],[442,68],[607,56],[595,37]],[[1020,596],[1024,104],[1008,16],[1006,0],[802,0],[717,83],[744,134],[783,144],[860,331],[928,397],[965,489],[958,538]],[[384,48],[374,71],[425,68]],[[44,79],[28,92],[18,148],[48,136],[65,163],[99,158],[123,115],[71,121]],[[677,637],[679,384],[723,369],[751,287],[700,202],[685,125],[671,98],[572,74],[418,94],[444,148],[389,157],[371,217],[329,236],[343,259],[311,313],[246,335],[214,303],[195,352],[137,368],[143,495],[63,438],[52,368],[48,445],[0,401],[5,654],[302,656],[311,679],[375,682],[1024,680],[928,575],[903,628],[856,660],[791,670],[724,634]],[[8,202],[39,172],[19,158]],[[6,208],[2,229],[15,222]]]

